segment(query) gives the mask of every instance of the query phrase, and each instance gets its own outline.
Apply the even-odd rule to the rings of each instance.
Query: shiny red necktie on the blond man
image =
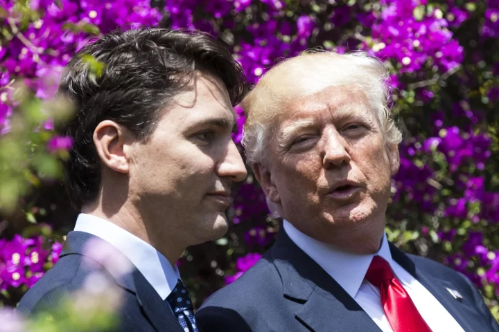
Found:
[[[383,310],[394,332],[431,332],[383,257],[373,257],[365,279],[379,288]]]

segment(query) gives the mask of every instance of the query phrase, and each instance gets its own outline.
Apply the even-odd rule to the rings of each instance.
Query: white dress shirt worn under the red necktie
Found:
[[[288,237],[333,277],[383,332],[393,332],[393,330],[383,311],[380,292],[378,288],[364,279],[374,255],[383,257],[389,263],[396,278],[408,292],[412,302],[433,332],[464,332],[432,293],[392,259],[386,234],[376,254],[355,255],[308,237],[289,221],[284,220],[283,227]]]

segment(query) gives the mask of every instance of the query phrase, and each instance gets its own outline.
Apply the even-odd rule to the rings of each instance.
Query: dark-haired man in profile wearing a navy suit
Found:
[[[82,213],[18,310],[54,308],[97,266],[125,290],[119,331],[199,331],[175,262],[227,231],[231,182],[246,176],[232,106],[246,89],[227,48],[199,32],[119,31],[82,48],[60,81],[76,106],[66,183]],[[114,267],[89,243],[118,252]],[[116,273],[120,259],[130,271]]]

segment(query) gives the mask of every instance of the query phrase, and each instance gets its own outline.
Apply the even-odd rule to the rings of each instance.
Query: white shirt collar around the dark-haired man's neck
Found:
[[[120,250],[132,261],[161,299],[166,299],[170,295],[180,279],[177,266],[172,266],[164,255],[146,241],[110,221],[82,213],[76,219],[74,230],[100,237]]]

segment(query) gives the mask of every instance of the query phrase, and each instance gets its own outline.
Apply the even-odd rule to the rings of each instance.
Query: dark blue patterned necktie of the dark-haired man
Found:
[[[179,279],[177,286],[173,288],[172,293],[166,297],[165,301],[170,304],[170,308],[172,308],[185,332],[199,332],[195,322],[191,297],[182,280]]]

